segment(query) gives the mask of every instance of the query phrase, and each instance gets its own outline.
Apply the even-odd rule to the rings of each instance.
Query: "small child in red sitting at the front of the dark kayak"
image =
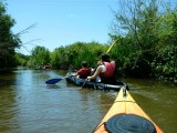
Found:
[[[81,65],[82,65],[82,69],[80,69],[76,72],[76,74],[81,79],[86,79],[91,74],[91,69],[87,68],[87,62],[86,61],[82,61]]]

